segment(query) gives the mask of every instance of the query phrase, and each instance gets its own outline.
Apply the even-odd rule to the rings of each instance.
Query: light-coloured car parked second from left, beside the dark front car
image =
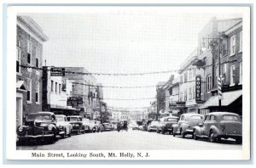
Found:
[[[59,128],[59,135],[64,138],[71,137],[72,125],[67,121],[66,115],[55,115],[56,126]]]

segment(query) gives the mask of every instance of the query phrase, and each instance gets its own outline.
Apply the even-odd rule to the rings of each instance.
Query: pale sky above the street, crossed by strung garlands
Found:
[[[47,65],[82,66],[90,72],[141,73],[178,70],[197,47],[198,32],[212,18],[240,14],[173,13],[114,8],[105,12],[26,14],[49,37],[44,42]],[[144,76],[95,76],[103,86],[155,86],[173,73]],[[148,107],[155,87],[103,88],[104,102],[119,108]],[[107,98],[153,98],[109,100]]]

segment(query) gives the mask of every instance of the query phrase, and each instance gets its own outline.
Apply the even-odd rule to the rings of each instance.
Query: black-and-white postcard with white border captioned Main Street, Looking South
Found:
[[[9,6],[7,160],[250,160],[250,12]]]

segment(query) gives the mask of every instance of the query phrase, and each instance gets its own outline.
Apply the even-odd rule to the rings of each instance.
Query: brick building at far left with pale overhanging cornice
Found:
[[[16,125],[26,114],[42,110],[43,42],[48,40],[42,28],[32,18],[17,16],[16,26]]]

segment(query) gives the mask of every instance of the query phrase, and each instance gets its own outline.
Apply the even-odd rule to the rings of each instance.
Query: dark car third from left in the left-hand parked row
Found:
[[[72,126],[72,132],[75,132],[76,134],[79,134],[80,132],[85,133],[85,126],[80,115],[67,116],[67,121]]]

